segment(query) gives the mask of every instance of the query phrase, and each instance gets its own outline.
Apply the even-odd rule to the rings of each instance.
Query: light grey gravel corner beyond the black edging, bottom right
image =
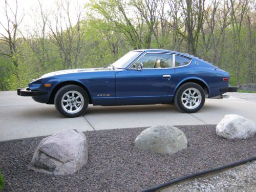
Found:
[[[159,192],[221,192],[221,191],[251,191],[256,190],[256,161],[225,169],[222,172],[190,179],[174,184]]]

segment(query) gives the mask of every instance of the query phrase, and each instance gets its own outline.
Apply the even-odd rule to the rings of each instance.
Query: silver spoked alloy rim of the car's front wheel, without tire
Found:
[[[69,91],[61,98],[62,109],[70,114],[81,111],[84,104],[83,96],[77,91]]]

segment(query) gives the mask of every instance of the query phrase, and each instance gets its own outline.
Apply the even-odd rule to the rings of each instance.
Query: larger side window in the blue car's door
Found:
[[[137,68],[141,62],[145,69],[173,68],[173,54],[147,53],[134,63],[133,68]]]

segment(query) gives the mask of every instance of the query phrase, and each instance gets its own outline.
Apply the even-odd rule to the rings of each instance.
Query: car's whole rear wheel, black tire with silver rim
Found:
[[[190,93],[192,94],[189,94],[189,90],[190,90]],[[195,95],[193,95],[194,92],[196,92]],[[200,98],[201,100],[199,100]],[[191,105],[190,105],[190,102],[191,102]],[[201,86],[199,86],[199,84],[194,82],[187,82],[182,84],[176,91],[176,94],[174,97],[175,106],[181,112],[184,112],[184,113],[195,113],[199,111],[204,105],[204,102],[205,102],[204,90]]]

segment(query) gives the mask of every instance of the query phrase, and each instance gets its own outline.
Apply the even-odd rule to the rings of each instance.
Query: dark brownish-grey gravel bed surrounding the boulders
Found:
[[[42,137],[0,143],[4,191],[140,191],[256,155],[256,136],[227,140],[216,135],[216,125],[177,127],[188,148],[174,155],[138,150],[134,140],[145,128],[86,132],[89,160],[72,176],[27,169]]]

